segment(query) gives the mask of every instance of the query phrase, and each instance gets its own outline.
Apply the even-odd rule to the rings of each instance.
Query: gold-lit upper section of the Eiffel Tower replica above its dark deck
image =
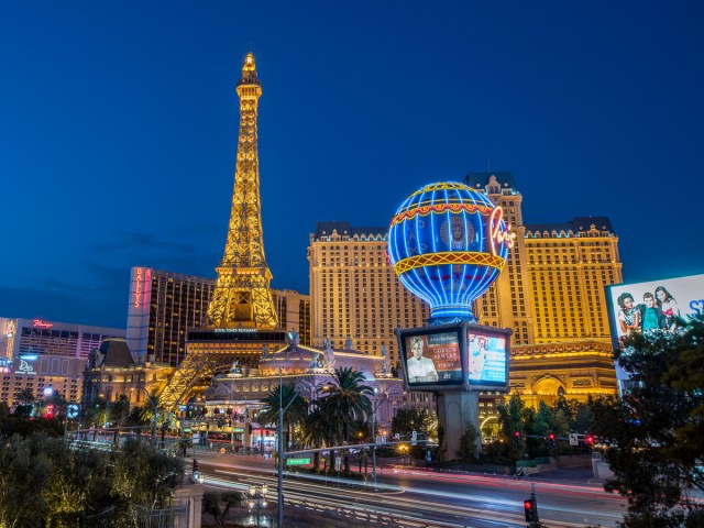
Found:
[[[250,51],[237,84],[240,98],[240,135],[230,226],[218,280],[208,308],[207,326],[216,328],[276,328],[278,318],[270,287],[272,273],[264,257],[257,111],[262,84]]]

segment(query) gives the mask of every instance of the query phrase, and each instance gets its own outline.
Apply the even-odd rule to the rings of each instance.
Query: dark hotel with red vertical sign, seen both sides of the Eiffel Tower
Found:
[[[127,338],[135,361],[178,366],[186,355],[186,332],[201,326],[215,287],[215,278],[133,267]],[[301,342],[310,342],[309,296],[272,293],[282,328],[295,328]]]

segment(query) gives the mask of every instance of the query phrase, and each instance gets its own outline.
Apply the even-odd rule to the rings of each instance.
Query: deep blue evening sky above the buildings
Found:
[[[273,286],[319,221],[510,170],[607,216],[626,282],[704,272],[702,2],[2,2],[0,316],[124,327],[133,265],[215,276],[253,41]]]

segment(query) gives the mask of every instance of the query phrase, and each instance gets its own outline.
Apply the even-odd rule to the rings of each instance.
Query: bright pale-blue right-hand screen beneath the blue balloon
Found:
[[[506,385],[506,337],[469,328],[468,380],[471,385]]]

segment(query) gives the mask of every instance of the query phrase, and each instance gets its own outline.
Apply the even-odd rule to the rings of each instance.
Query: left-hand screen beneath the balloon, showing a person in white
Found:
[[[461,385],[462,361],[457,330],[427,331],[403,339],[408,386]]]

